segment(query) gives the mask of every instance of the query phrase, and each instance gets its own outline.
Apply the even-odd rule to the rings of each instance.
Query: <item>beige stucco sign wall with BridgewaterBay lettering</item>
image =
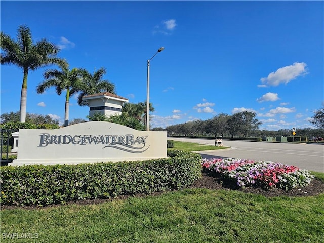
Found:
[[[167,157],[167,132],[138,131],[105,121],[61,129],[20,129],[17,159],[9,165],[134,161]]]

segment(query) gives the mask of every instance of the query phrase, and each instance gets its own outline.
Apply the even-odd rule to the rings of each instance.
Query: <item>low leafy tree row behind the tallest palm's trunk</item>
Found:
[[[1,122],[2,123],[16,123],[19,121],[20,118],[20,112],[10,112],[10,113],[3,113],[0,116]],[[40,114],[32,114],[32,113],[26,113],[26,122],[27,123],[33,123],[36,125],[41,125],[41,124],[59,124],[58,120],[53,119],[49,115],[40,115]]]

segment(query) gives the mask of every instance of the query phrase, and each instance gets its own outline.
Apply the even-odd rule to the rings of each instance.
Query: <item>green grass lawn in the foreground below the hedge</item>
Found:
[[[99,205],[2,210],[1,242],[17,242],[6,233],[38,237],[20,242],[324,242],[323,205],[324,194],[185,189]]]

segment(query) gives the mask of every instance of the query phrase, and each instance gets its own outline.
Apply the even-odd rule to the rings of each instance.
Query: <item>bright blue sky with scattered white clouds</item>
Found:
[[[323,1],[1,1],[1,30],[61,46],[70,67],[105,79],[131,103],[146,100],[153,127],[254,111],[261,129],[312,127],[324,100]],[[45,69],[29,73],[27,112],[64,121],[65,95],[37,94]],[[1,66],[1,113],[18,111],[23,74]],[[70,120],[88,107],[70,99]]]

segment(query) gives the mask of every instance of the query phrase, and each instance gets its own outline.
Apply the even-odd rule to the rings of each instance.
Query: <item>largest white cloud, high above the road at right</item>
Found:
[[[293,65],[281,67],[275,72],[271,72],[267,77],[262,77],[262,85],[258,87],[278,86],[281,83],[288,84],[291,80],[301,75],[307,74],[307,64],[295,62]]]

